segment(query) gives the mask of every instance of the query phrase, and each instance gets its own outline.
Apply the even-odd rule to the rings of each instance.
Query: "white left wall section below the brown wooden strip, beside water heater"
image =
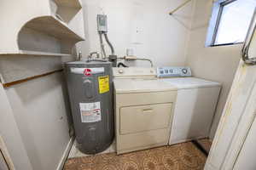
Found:
[[[56,169],[70,141],[65,83],[55,73],[5,89],[33,169]]]

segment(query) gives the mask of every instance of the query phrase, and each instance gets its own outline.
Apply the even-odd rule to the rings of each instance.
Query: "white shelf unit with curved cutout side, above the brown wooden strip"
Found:
[[[71,55],[84,41],[81,8],[80,0],[1,0],[0,55]]]

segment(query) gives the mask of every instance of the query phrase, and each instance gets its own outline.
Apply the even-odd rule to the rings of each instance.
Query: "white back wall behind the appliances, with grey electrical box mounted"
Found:
[[[108,37],[119,57],[125,56],[126,48],[133,48],[134,54],[153,59],[154,65],[185,64],[192,3],[172,16],[168,13],[183,1],[83,0],[83,3],[84,56],[92,51],[100,51],[96,14],[103,12],[108,14]],[[149,63],[137,61],[135,65]]]

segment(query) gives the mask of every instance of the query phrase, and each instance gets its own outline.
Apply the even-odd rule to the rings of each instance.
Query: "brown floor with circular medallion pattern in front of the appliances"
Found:
[[[106,153],[69,158],[64,170],[203,170],[206,161],[207,156],[187,142],[119,156]]]

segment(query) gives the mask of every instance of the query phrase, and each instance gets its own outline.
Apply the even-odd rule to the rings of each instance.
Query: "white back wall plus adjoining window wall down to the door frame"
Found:
[[[154,65],[189,65],[195,77],[223,84],[212,124],[211,138],[218,127],[240,59],[241,45],[206,48],[212,0],[194,0],[177,13],[168,13],[180,0],[82,0],[86,41],[83,56],[100,52],[96,14],[108,14],[108,37],[119,57],[133,48],[138,57],[153,59]],[[107,46],[108,48],[108,46]],[[108,50],[108,54],[110,54]],[[137,61],[132,65],[149,65]]]

